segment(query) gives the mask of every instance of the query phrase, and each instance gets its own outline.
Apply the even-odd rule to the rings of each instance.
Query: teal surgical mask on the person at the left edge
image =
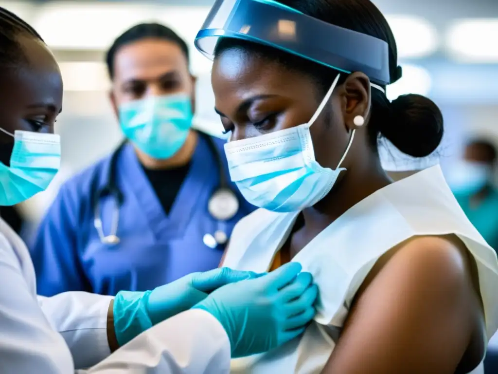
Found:
[[[60,137],[16,130],[10,166],[0,162],[0,205],[14,205],[45,190],[59,171]]]

